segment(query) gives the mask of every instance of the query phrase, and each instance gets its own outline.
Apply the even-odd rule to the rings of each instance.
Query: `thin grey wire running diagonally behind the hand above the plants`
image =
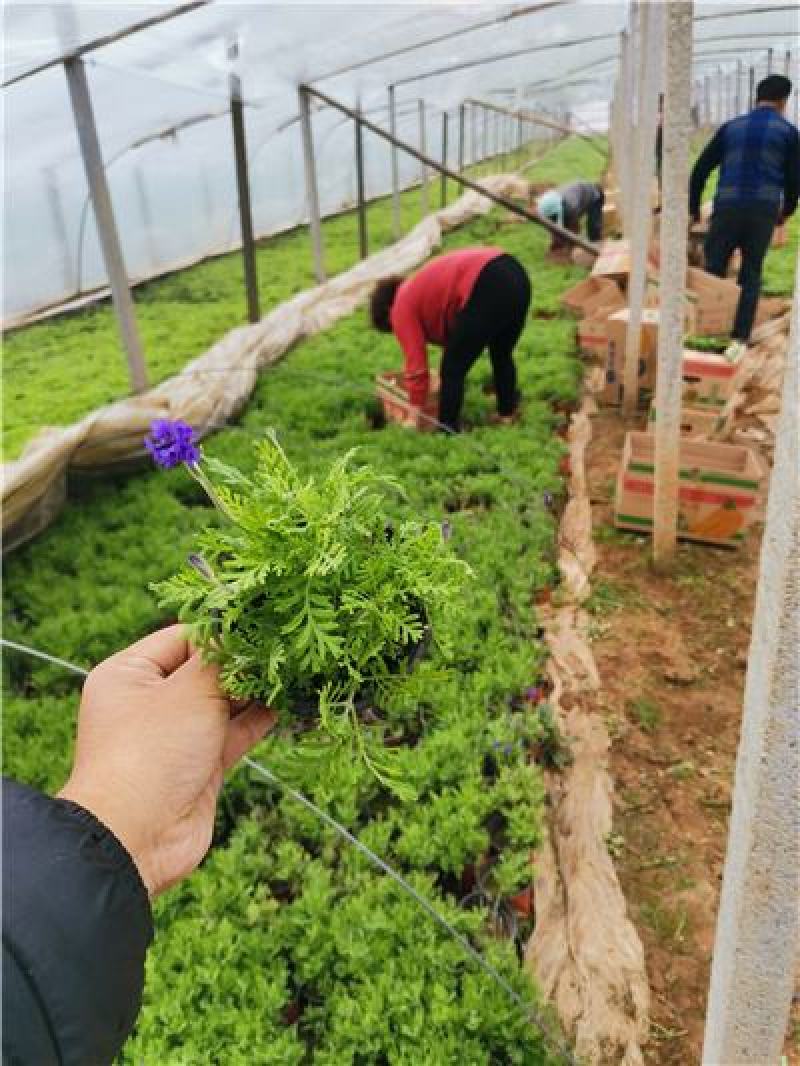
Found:
[[[84,669],[82,666],[77,666],[75,663],[67,662],[64,659],[59,659],[57,656],[51,656],[46,651],[39,651],[37,648],[29,647],[26,644],[19,644],[16,641],[9,641],[5,637],[0,637],[0,646],[12,649],[13,651],[18,651],[21,655],[30,656],[34,659],[41,659],[45,662],[52,663],[55,666],[60,666],[62,669],[68,671],[70,674],[76,674],[79,677],[87,677],[89,671]],[[245,755],[241,760],[246,766],[249,766],[255,774],[263,778],[263,780],[269,781],[270,785],[276,786],[281,791],[285,792],[286,795],[290,796],[295,803],[301,804],[306,810],[309,810],[316,818],[322,821],[329,828],[337,833],[343,840],[346,840],[352,847],[355,847],[362,855],[367,858],[372,866],[377,867],[382,873],[385,873],[387,877],[398,885],[406,895],[411,897],[414,902],[425,910],[425,912],[441,928],[443,928],[447,935],[459,944],[461,950],[481,969],[483,972],[500,988],[509,999],[514,1003],[514,1005],[524,1014],[526,1020],[539,1029],[545,1044],[549,1047],[551,1051],[556,1051],[565,1063],[570,1066],[579,1066],[578,1060],[573,1053],[569,1045],[557,1034],[554,1033],[550,1025],[545,1022],[543,1016],[537,1011],[534,1006],[527,1003],[523,997],[513,988],[513,986],[502,976],[502,974],[489,962],[481,953],[473,947],[473,944],[463,936],[459,931],[444,917],[439,911],[430,903],[426,898],[418,892],[413,885],[411,885],[401,873],[398,873],[394,867],[389,866],[385,859],[382,859],[380,855],[377,855],[367,844],[354,837],[349,829],[332,818],[326,811],[318,807],[313,800],[304,795],[302,792],[286,785],[275,774],[265,766],[262,763],[258,762],[256,759],[251,758]]]

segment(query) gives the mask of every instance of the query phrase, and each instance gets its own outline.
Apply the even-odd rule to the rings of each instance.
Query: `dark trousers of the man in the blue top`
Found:
[[[741,252],[738,282],[741,288],[736,307],[733,336],[735,340],[749,340],[758,308],[762,291],[762,270],[775,215],[769,211],[741,208],[718,208],[711,215],[711,225],[705,240],[705,269],[709,274],[724,277],[736,248]]]

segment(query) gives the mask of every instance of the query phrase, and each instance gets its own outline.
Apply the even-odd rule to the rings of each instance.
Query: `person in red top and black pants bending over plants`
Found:
[[[381,281],[372,324],[394,333],[405,356],[405,386],[415,407],[428,399],[428,345],[444,349],[438,420],[461,427],[466,375],[484,349],[492,361],[497,416],[511,422],[518,405],[513,352],[530,306],[524,266],[501,248],[464,248],[431,260],[413,277]]]

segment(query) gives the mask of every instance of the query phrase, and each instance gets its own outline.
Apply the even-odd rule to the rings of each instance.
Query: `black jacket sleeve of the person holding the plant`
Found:
[[[3,780],[3,1066],[106,1066],[130,1033],[147,893],[87,810]]]

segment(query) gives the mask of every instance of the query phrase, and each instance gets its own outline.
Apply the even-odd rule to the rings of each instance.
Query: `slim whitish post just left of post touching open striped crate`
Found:
[[[669,6],[669,5],[667,5]],[[639,358],[644,292],[647,282],[647,252],[653,211],[651,190],[656,147],[656,112],[659,90],[659,50],[665,9],[644,3],[640,7],[641,38],[638,62],[639,114],[635,133],[635,167],[630,215],[630,275],[628,277],[628,323],[625,336],[622,409],[634,415],[639,405]]]

